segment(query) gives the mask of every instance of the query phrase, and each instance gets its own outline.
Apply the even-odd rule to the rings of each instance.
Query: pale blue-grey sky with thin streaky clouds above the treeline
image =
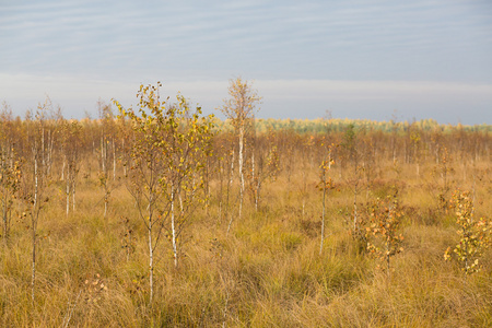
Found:
[[[68,118],[163,83],[222,117],[231,79],[260,118],[492,124],[492,1],[0,0],[0,102]]]

